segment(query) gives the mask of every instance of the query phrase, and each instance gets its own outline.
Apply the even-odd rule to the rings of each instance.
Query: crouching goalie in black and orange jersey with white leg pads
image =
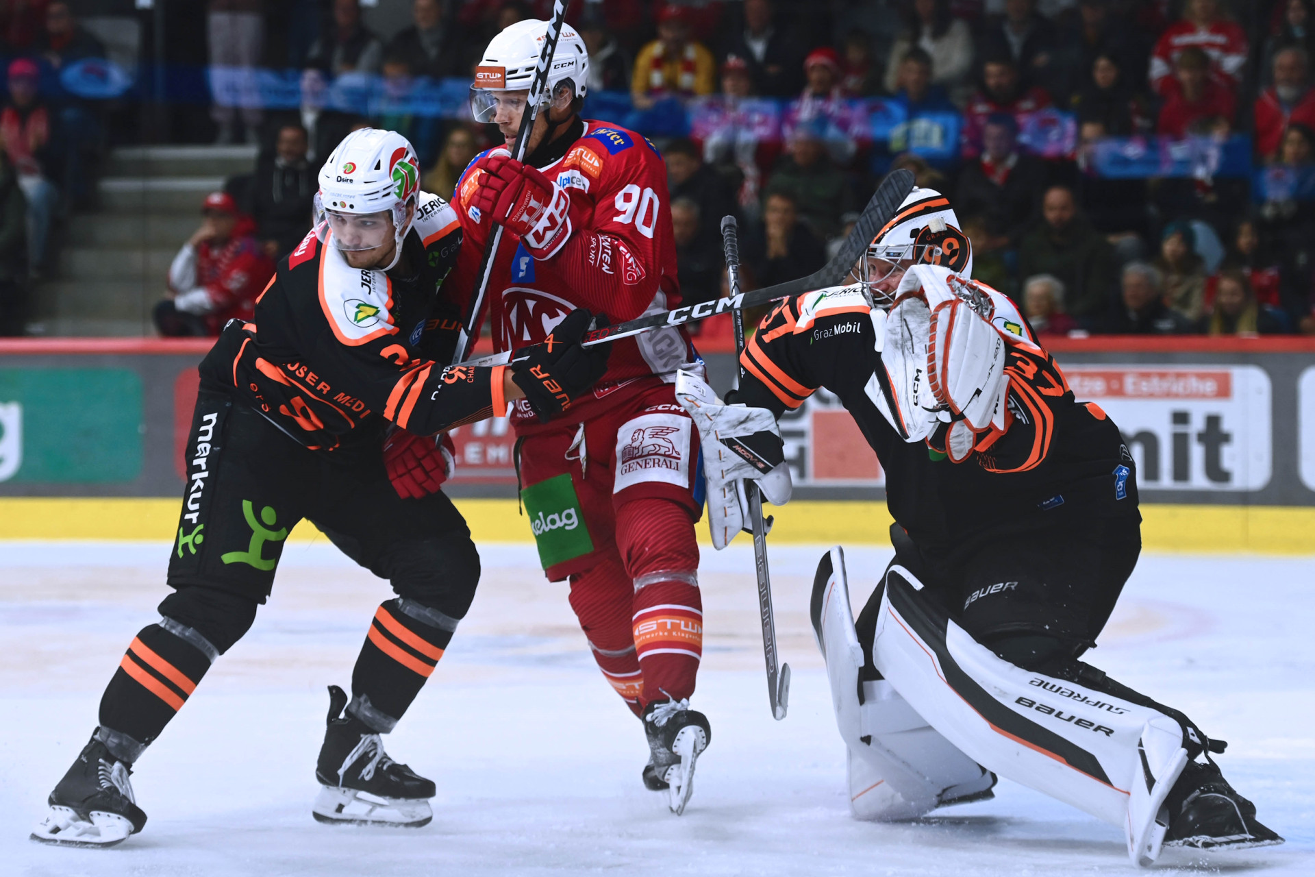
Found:
[[[881,462],[896,557],[857,623],[839,547],[811,602],[853,814],[919,817],[1001,774],[1122,826],[1141,865],[1164,844],[1282,843],[1223,778],[1223,742],[1078,660],[1141,550],[1136,465],[1010,300],[970,280],[957,226],[915,188],[853,285],[763,320],[725,404],[677,381],[718,547],[743,527],[746,477],[788,500],[776,418],[818,388]]]

